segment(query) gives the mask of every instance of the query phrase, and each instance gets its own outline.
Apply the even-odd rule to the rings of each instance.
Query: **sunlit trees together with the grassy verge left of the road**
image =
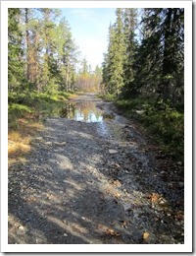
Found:
[[[101,68],[79,58],[60,9],[9,8],[8,31],[8,148],[9,160],[17,160],[69,96],[98,90]]]

